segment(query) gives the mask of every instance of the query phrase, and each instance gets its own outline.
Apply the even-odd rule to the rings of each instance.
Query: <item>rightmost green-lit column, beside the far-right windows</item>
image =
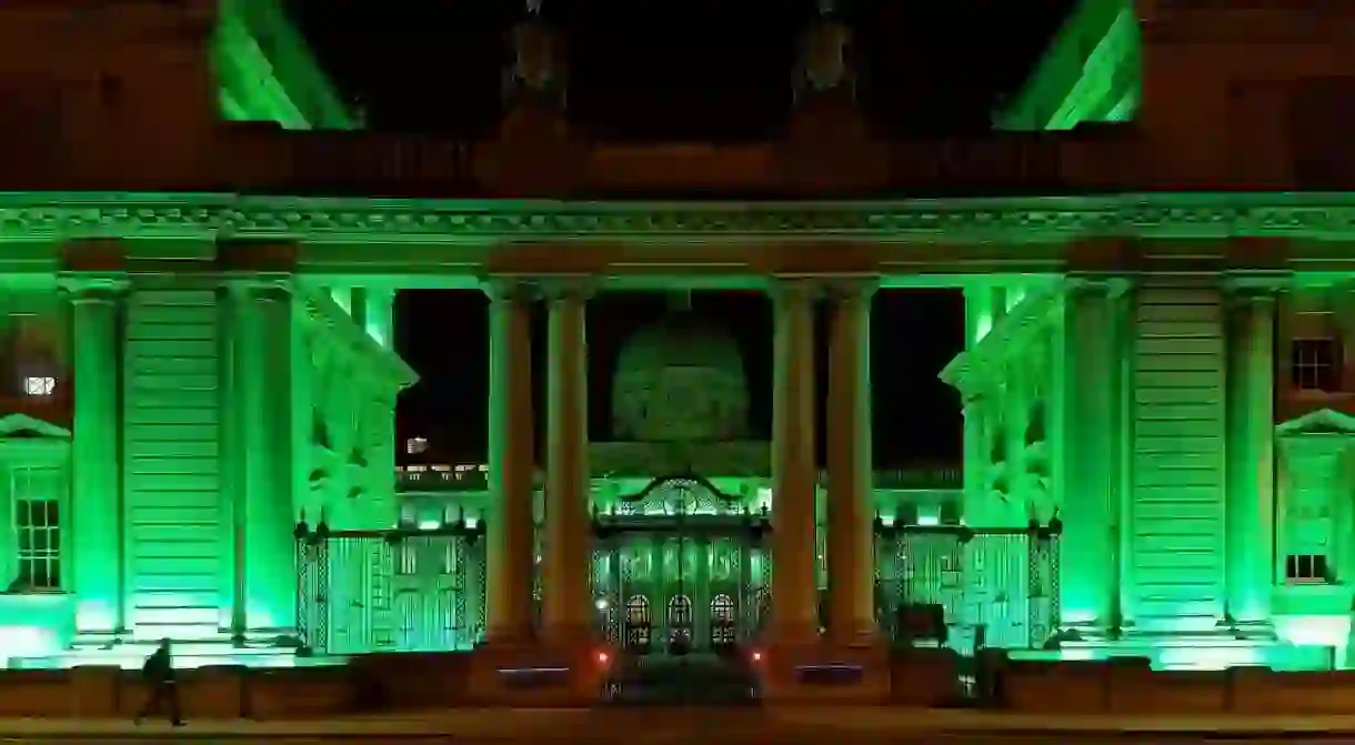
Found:
[[[1229,344],[1228,615],[1271,635],[1275,584],[1275,298],[1238,294]]]

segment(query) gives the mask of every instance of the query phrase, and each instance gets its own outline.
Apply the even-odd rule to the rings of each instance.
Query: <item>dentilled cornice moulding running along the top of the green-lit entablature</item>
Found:
[[[127,237],[484,244],[837,238],[1037,244],[1087,236],[1350,240],[1355,237],[1355,194],[753,203],[0,194],[0,241]]]

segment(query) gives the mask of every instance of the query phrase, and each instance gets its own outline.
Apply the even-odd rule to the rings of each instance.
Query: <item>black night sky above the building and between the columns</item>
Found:
[[[486,137],[503,111],[514,0],[287,0],[302,33],[371,129]],[[856,0],[858,99],[883,135],[988,129],[1072,0]],[[791,108],[795,37],[813,0],[546,0],[568,31],[569,115],[588,137],[627,141],[774,138]],[[398,8],[398,9],[397,9]],[[1033,9],[1034,8],[1034,9]],[[603,294],[588,312],[589,428],[607,436],[610,378],[625,339],[668,299]],[[695,312],[740,343],[755,435],[771,424],[771,306],[757,294],[696,294]],[[421,375],[400,405],[401,438],[446,459],[482,462],[486,301],[406,291],[400,352]],[[534,324],[543,358],[543,317]],[[958,397],[936,374],[961,348],[958,293],[885,291],[874,302],[871,378],[877,467],[958,462]],[[821,335],[822,336],[822,335]],[[820,355],[820,394],[822,358]],[[538,383],[543,375],[538,374]],[[539,386],[538,386],[539,387]],[[539,391],[538,391],[539,398]],[[538,406],[541,413],[541,406]]]

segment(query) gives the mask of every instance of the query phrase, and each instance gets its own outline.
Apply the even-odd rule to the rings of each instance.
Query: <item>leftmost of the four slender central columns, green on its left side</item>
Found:
[[[531,318],[526,289],[495,280],[489,294],[489,505],[485,536],[485,641],[533,637],[535,458]]]

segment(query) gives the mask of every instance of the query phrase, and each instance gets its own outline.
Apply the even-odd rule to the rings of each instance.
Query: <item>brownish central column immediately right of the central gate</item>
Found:
[[[818,639],[814,494],[814,306],[808,280],[774,287],[771,641]]]

